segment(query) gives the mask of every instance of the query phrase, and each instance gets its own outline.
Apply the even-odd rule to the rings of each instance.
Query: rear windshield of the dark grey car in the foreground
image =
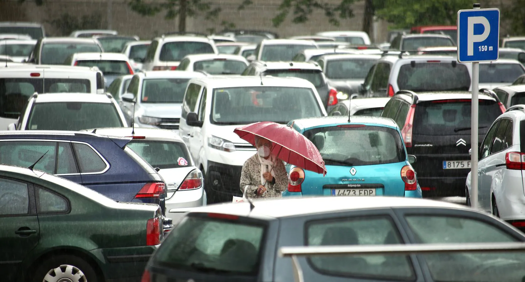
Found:
[[[256,276],[265,226],[188,216],[173,229],[152,262],[170,268]]]

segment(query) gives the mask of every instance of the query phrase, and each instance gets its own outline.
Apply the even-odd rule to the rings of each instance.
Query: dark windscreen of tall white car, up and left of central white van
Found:
[[[187,55],[214,54],[211,44],[198,41],[175,41],[162,45],[159,60],[181,61]]]

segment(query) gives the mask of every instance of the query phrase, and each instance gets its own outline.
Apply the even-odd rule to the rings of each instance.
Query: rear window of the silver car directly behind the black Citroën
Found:
[[[470,74],[465,65],[450,61],[406,64],[399,70],[397,85],[412,91],[468,91]]]

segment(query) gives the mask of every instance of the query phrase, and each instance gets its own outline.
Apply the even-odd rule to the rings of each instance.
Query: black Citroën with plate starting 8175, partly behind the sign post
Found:
[[[481,89],[479,143],[492,122],[505,112],[496,93]],[[423,196],[465,196],[470,171],[471,92],[419,92],[402,90],[386,103],[381,117],[393,119],[401,129]]]

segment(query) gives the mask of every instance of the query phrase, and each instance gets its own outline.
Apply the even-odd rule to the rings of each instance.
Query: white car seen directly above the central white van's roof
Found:
[[[182,59],[176,70],[204,71],[210,75],[240,75],[248,61],[239,55],[199,54]]]

